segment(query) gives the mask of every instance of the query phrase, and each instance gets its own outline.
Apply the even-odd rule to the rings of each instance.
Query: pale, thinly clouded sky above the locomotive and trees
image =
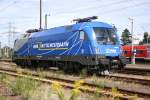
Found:
[[[0,0],[2,46],[13,45],[13,40],[28,29],[39,28],[39,1]],[[98,16],[97,21],[115,25],[121,36],[125,28],[131,30],[129,18],[133,18],[134,37],[141,40],[144,32],[150,33],[149,11],[150,0],[42,0],[42,27],[45,14],[50,15],[48,28],[73,24],[75,18]],[[16,33],[12,36],[9,31]]]

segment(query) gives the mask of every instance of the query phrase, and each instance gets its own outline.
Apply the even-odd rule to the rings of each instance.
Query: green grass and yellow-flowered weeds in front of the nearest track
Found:
[[[19,74],[22,72],[18,71]],[[44,74],[40,75],[44,77]],[[84,76],[84,75],[83,75]],[[81,95],[83,94],[79,88],[83,84],[83,80],[78,80],[74,83],[74,88],[66,94],[66,90],[59,83],[54,82],[50,86],[43,86],[40,82],[30,79],[32,77],[30,74],[27,78],[18,77],[15,80],[9,80],[8,76],[2,74],[0,75],[0,82],[6,83],[16,95],[22,97],[22,100],[51,100],[53,94],[55,94],[52,100],[79,100]],[[99,100],[102,95],[99,94],[98,91],[102,90],[105,86],[105,80],[99,80],[96,75],[92,77],[93,84],[97,85],[97,92],[92,96],[92,98],[85,98],[87,100]],[[118,96],[120,95],[117,88],[112,88],[113,98],[112,100],[118,100]],[[1,99],[0,99],[1,100]],[[2,99],[3,100],[3,99]],[[4,99],[5,100],[5,99]],[[84,100],[81,98],[81,100]],[[106,99],[107,100],[107,99]]]

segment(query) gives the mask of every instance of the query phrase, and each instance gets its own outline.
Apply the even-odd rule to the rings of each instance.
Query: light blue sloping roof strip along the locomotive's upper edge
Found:
[[[38,36],[44,36],[47,34],[61,34],[76,30],[81,30],[85,27],[106,27],[106,28],[112,28],[111,25],[104,23],[104,22],[83,22],[83,23],[76,23],[73,25],[66,25],[66,26],[60,26],[60,27],[54,27],[50,29],[46,29],[39,32],[34,32],[31,34],[31,37],[38,37]]]

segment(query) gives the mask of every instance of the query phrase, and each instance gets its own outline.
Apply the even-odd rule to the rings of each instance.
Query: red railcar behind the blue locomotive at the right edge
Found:
[[[126,58],[131,58],[132,56],[131,49],[132,49],[131,45],[122,46],[122,50]],[[136,50],[135,55],[136,59],[150,60],[150,45],[136,45],[133,46],[133,49]]]

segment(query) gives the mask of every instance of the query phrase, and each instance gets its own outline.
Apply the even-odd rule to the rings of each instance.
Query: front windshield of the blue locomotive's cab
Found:
[[[98,44],[115,44],[118,42],[116,31],[112,28],[93,28]]]

